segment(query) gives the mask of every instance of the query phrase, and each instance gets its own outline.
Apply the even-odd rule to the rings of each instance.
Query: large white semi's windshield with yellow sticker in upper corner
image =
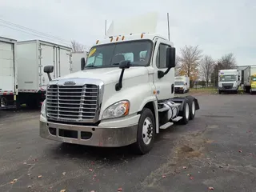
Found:
[[[152,45],[148,40],[139,40],[94,46],[88,54],[85,68],[118,66],[123,60],[130,60],[131,66],[148,66]]]

